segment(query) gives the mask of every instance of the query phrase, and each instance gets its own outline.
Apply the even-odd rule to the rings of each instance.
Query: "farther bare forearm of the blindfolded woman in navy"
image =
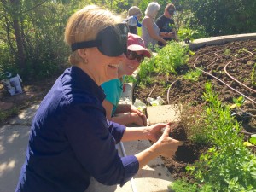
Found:
[[[134,141],[134,140],[147,140],[148,126],[142,127],[126,127],[125,133],[121,139],[122,142]]]

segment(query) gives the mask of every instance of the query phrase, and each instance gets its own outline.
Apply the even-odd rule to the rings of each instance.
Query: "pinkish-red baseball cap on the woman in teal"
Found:
[[[151,57],[150,52],[145,48],[143,38],[130,32],[128,33],[127,49],[131,51],[143,50],[143,55],[147,56],[148,58]]]

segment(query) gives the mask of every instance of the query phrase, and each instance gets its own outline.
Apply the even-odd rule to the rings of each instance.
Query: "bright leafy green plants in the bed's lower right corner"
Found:
[[[219,102],[212,84],[206,84],[203,98],[207,102],[204,129],[212,148],[187,167],[193,184],[211,186],[218,192],[256,191],[256,156],[243,145],[240,125],[230,115],[230,108]]]

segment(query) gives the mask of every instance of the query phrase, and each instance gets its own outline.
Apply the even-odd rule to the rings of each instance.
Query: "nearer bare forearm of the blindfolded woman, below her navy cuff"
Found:
[[[159,156],[157,153],[156,145],[152,145],[149,148],[143,150],[139,154],[135,154],[137,160],[139,161],[139,169],[147,165],[150,160],[154,160]]]

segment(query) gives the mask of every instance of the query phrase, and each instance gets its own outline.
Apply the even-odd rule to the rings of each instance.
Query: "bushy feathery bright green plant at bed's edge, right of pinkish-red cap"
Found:
[[[188,46],[170,41],[158,51],[158,55],[155,56],[155,66],[160,73],[177,74],[177,68],[182,67],[189,61],[188,52]]]

